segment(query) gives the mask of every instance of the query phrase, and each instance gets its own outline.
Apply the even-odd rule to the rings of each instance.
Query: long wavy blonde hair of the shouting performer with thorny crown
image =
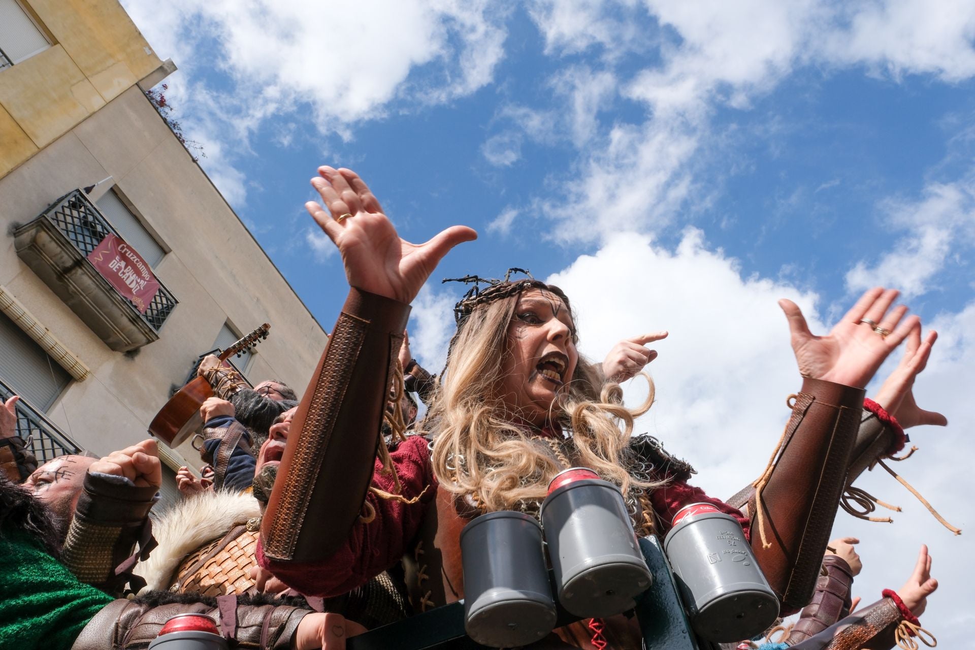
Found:
[[[558,287],[544,287],[558,295]],[[508,325],[519,294],[476,308],[460,325],[441,385],[425,419],[434,434],[433,470],[440,486],[473,495],[486,511],[517,510],[522,502],[545,498],[549,480],[562,469],[535,436],[512,420],[517,414],[501,395],[502,364],[509,354]],[[573,315],[574,322],[574,315]],[[605,381],[592,363],[580,358],[571,381],[553,401],[549,420],[571,434],[578,463],[615,483],[624,494],[631,487],[659,483],[631,476],[627,467],[634,418],[653,403],[653,382],[635,409],[622,403],[619,384]]]

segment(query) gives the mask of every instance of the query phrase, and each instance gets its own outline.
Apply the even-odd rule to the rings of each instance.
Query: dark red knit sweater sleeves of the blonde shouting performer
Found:
[[[326,597],[360,587],[371,577],[396,564],[419,531],[427,507],[436,495],[437,479],[430,465],[427,440],[420,436],[401,442],[390,452],[390,456],[400,478],[403,496],[412,498],[423,494],[419,501],[409,505],[380,499],[370,492],[366,498],[375,509],[375,519],[370,523],[357,521],[349,531],[345,545],[327,559],[313,563],[270,560],[258,542],[258,563],[298,592]],[[392,491],[393,478],[382,474],[381,469],[376,461],[372,484]],[[746,538],[749,536],[749,522],[745,516],[683,480],[673,480],[650,495],[650,504],[667,529],[670,528],[671,519],[683,506],[698,502],[713,504],[722,513],[734,516],[745,529]]]

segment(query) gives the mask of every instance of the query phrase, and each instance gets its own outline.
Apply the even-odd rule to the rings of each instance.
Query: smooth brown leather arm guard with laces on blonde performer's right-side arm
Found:
[[[863,398],[863,389],[803,379],[777,456],[754,488],[728,501],[751,517],[752,548],[785,611],[805,606],[815,590]]]

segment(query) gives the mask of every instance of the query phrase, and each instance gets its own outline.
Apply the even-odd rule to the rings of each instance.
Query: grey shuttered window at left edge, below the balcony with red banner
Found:
[[[34,339],[0,313],[0,378],[21,398],[46,411],[71,381]]]

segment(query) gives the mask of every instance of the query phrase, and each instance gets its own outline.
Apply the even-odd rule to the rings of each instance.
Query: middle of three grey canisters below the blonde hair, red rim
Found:
[[[632,609],[652,579],[619,488],[592,470],[565,470],[541,516],[563,607],[583,618]]]

